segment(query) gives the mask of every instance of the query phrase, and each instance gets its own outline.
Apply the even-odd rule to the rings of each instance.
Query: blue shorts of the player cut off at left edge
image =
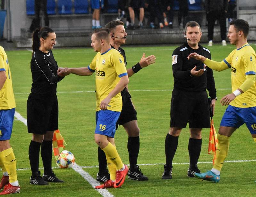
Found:
[[[0,141],[10,140],[15,108],[0,110]]]

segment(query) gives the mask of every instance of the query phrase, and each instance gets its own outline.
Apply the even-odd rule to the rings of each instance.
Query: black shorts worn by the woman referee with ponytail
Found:
[[[28,133],[45,134],[58,129],[58,99],[30,94],[27,101]]]

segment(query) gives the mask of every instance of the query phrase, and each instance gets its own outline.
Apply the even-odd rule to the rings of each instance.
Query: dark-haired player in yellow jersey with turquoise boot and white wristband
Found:
[[[230,136],[241,125],[246,124],[256,142],[256,55],[247,43],[248,33],[249,24],[245,20],[237,19],[230,22],[228,39],[231,44],[236,45],[236,49],[222,62],[209,60],[196,53],[188,56],[188,59],[193,57],[217,71],[231,69],[233,93],[220,100],[222,106],[228,105],[228,108],[220,123],[215,164],[211,171],[195,174],[202,180],[215,183],[220,181],[220,171],[228,154]]]

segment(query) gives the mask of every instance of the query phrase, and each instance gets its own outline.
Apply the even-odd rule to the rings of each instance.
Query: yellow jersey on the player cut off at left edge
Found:
[[[0,110],[12,109],[16,107],[13,89],[12,89],[12,76],[9,67],[7,55],[4,48],[0,46],[0,71],[6,72],[6,81],[0,90]]]

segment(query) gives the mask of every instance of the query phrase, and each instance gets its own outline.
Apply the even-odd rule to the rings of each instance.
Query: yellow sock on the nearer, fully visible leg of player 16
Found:
[[[116,169],[119,170],[119,169],[123,168],[124,164],[123,164],[121,158],[118,155],[116,147],[113,144],[111,144],[109,142],[108,145],[102,150],[104,151],[106,156],[109,157],[111,162],[113,162],[113,164],[116,166]]]

